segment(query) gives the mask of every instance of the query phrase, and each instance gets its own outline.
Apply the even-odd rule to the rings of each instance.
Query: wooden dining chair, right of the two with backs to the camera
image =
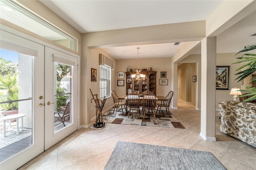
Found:
[[[145,93],[143,95],[143,108],[144,108],[143,119],[145,119],[146,109],[148,110],[151,109],[152,113],[154,114],[154,118],[156,120],[156,113],[155,113],[156,95],[154,95],[153,93]]]

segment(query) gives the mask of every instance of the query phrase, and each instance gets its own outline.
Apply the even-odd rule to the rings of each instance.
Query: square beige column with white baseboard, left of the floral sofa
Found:
[[[216,37],[201,42],[201,132],[204,140],[215,138]]]

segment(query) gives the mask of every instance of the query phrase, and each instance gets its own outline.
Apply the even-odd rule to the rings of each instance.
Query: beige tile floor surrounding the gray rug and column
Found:
[[[199,135],[200,111],[180,101],[178,108],[170,111],[186,129],[117,124],[107,124],[102,130],[81,128],[19,170],[102,170],[118,140],[205,150],[228,170],[256,170],[256,148],[220,132],[218,113],[217,141],[212,142]]]

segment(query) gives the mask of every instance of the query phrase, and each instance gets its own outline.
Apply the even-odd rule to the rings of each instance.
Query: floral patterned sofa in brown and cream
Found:
[[[256,104],[222,101],[219,109],[220,131],[256,147]]]

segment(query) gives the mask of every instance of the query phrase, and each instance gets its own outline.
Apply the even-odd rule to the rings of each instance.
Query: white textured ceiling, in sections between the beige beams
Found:
[[[206,20],[223,0],[40,0],[81,33]],[[256,42],[256,12],[217,36],[217,53],[237,52]],[[116,59],[171,57],[174,43],[109,47]],[[194,54],[200,54],[198,49]]]

